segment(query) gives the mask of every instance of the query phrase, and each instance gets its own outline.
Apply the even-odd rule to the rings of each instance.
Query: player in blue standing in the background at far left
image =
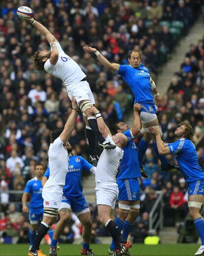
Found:
[[[29,220],[31,223],[31,228],[29,230],[30,248],[34,243],[37,226],[43,218],[42,177],[44,172],[44,165],[42,163],[37,163],[34,170],[35,177],[27,182],[22,196],[22,211],[24,213],[29,213]],[[29,194],[31,194],[31,202],[28,209],[26,203]],[[49,230],[48,234],[52,239],[53,229]]]

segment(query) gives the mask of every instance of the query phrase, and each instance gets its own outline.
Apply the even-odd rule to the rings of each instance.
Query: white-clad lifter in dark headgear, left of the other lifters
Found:
[[[34,244],[28,256],[45,256],[39,250],[42,238],[45,236],[50,226],[55,222],[58,215],[58,208],[62,201],[63,186],[68,172],[68,151],[66,144],[75,127],[76,117],[79,108],[76,100],[72,97],[72,112],[68,117],[64,130],[57,129],[52,132],[52,142],[48,150],[50,177],[42,189],[43,198],[43,219],[39,224]]]

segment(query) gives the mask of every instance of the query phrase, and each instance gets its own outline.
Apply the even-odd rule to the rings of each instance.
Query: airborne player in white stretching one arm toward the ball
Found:
[[[61,48],[57,39],[47,30],[42,24],[29,19],[31,24],[36,28],[51,46],[51,51],[41,50],[34,54],[34,66],[38,70],[45,70],[53,76],[61,79],[68,92],[68,97],[74,97],[81,109],[86,123],[86,135],[90,148],[90,161],[97,164],[96,155],[96,136],[99,143],[103,142],[102,135],[99,132],[96,118],[93,114],[87,112],[87,109],[95,104],[94,96],[91,92],[86,75],[81,70],[80,66],[69,57]],[[111,149],[113,145],[104,143],[107,149]]]

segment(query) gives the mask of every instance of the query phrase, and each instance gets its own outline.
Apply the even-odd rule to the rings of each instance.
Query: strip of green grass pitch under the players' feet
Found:
[[[130,252],[133,256],[193,256],[200,245],[155,245],[134,244]],[[108,245],[92,245],[96,256],[107,256]],[[0,256],[27,256],[29,245],[0,245]],[[49,256],[48,246],[41,246],[42,252]],[[60,245],[58,256],[80,256],[80,245]]]

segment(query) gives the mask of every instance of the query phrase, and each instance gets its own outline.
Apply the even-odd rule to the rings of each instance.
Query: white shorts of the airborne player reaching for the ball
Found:
[[[71,88],[67,88],[67,91],[69,99],[71,100],[71,97],[74,97],[77,104],[84,100],[90,100],[93,104],[95,104],[94,95],[87,81],[78,82]]]

